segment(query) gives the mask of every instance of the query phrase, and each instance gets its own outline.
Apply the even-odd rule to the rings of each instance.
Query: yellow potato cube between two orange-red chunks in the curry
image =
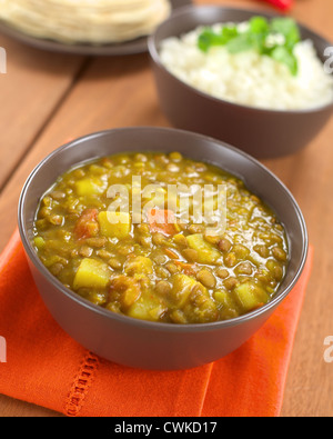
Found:
[[[127,212],[100,212],[98,220],[104,237],[122,239],[131,231],[131,217]]]

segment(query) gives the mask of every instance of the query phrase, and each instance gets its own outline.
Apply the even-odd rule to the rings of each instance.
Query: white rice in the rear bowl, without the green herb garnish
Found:
[[[222,27],[216,24],[214,28]],[[162,41],[164,67],[183,82],[230,102],[271,110],[306,110],[333,102],[333,77],[324,71],[311,40],[295,46],[297,76],[255,50],[230,53],[225,47],[201,51],[198,28]]]

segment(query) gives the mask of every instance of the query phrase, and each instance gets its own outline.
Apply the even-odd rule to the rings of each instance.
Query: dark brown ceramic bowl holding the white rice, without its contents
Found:
[[[162,64],[159,48],[162,40],[179,37],[199,26],[226,21],[248,21],[253,16],[270,13],[224,8],[190,6],[174,12],[149,39],[161,108],[175,127],[223,140],[259,159],[276,158],[304,148],[325,126],[333,103],[312,110],[273,111],[230,103],[185,84]],[[302,39],[311,39],[322,61],[330,42],[300,26]]]

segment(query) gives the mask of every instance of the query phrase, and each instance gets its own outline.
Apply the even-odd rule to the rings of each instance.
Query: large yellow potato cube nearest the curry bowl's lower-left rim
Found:
[[[104,262],[85,258],[77,271],[73,288],[105,288],[110,280],[111,270]]]

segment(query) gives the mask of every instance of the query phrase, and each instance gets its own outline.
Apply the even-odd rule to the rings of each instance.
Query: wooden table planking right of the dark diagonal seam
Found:
[[[198,2],[229,3],[228,0]],[[260,2],[255,4],[250,0],[234,1],[233,4],[260,7]],[[331,0],[300,0],[294,10],[295,17],[331,40],[332,13]],[[143,54],[93,60],[39,131],[33,148],[17,167],[0,196],[0,248],[3,248],[13,230],[21,187],[32,168],[48,152],[67,138],[129,124],[169,126],[159,109],[148,57]],[[307,222],[311,243],[315,248],[315,265],[295,339],[282,416],[333,415],[333,366],[323,360],[324,338],[333,333],[333,295],[330,292],[333,211],[332,203],[327,202],[332,199],[332,137],[331,120],[321,136],[304,151],[265,161],[297,199]],[[11,416],[22,412],[27,416],[46,413],[44,409],[23,402],[16,406],[7,397],[0,398],[0,413],[2,410],[9,410]]]

